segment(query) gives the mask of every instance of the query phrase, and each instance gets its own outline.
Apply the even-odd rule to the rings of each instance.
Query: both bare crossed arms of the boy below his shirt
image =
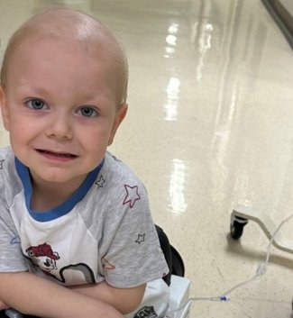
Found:
[[[122,318],[142,301],[145,285],[64,287],[28,272],[0,273],[0,309],[50,318]]]

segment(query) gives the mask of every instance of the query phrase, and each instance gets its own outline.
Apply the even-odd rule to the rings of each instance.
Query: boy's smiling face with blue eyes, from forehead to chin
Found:
[[[96,168],[123,121],[109,58],[70,41],[26,40],[0,94],[14,153],[35,181],[75,182]]]

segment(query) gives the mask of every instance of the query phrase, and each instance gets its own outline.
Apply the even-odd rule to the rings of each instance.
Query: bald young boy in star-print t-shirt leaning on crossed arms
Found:
[[[14,33],[1,69],[11,148],[0,150],[0,309],[53,318],[166,311],[160,278],[169,269],[146,191],[106,151],[126,90],[123,50],[87,14],[49,10]]]

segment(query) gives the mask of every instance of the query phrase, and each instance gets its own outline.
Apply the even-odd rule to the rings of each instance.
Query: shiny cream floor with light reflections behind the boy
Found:
[[[256,223],[232,241],[233,206],[276,223],[293,213],[293,56],[261,1],[0,0],[1,55],[19,23],[54,5],[93,14],[124,43],[130,109],[111,151],[148,187],[190,295],[253,277],[269,241]],[[293,256],[272,249],[266,275],[230,297],[194,303],[190,317],[291,317]]]

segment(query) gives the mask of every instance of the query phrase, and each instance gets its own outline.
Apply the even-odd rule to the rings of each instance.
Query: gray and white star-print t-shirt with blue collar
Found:
[[[0,272],[133,287],[169,271],[142,182],[109,153],[68,201],[38,213],[29,169],[1,149],[0,191]]]

